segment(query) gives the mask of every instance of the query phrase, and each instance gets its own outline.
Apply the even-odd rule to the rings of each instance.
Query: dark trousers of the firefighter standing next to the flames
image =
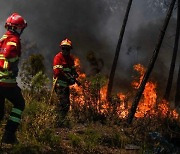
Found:
[[[64,119],[70,108],[70,90],[69,87],[55,87],[55,92],[59,99],[58,110],[61,118]]]

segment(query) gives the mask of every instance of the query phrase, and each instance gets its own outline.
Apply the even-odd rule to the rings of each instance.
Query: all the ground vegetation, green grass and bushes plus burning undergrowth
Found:
[[[40,63],[43,58],[32,55],[22,67],[26,109],[19,130],[21,133],[18,132],[20,144],[10,149],[1,147],[0,152],[153,153],[158,149],[171,152],[175,149],[172,143],[175,141],[178,144],[175,138],[180,130],[178,114],[171,110],[169,102],[158,101],[157,83],[147,83],[136,119],[132,125],[125,122],[132,104],[131,98],[145,72],[142,65],[134,66],[137,77],[130,84],[133,89],[131,93],[118,92],[108,102],[107,78],[101,74],[87,76],[81,73],[80,60],[76,58],[81,86],[71,86],[71,110],[64,126],[59,128],[56,95],[49,104],[48,77],[41,71],[44,67],[34,68],[35,61]],[[2,130],[3,127],[0,127],[0,132]],[[164,139],[164,136],[170,139]]]

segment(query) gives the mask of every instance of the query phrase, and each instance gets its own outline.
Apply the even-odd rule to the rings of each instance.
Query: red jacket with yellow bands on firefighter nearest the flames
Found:
[[[56,84],[62,87],[68,87],[72,83],[70,83],[71,77],[68,75],[76,74],[75,66],[74,66],[74,58],[72,55],[64,56],[62,52],[59,52],[53,61],[53,71],[54,77],[58,78]]]

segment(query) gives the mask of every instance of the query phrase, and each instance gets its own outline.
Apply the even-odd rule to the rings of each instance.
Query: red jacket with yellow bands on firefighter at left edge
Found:
[[[21,43],[18,34],[7,31],[0,39],[0,86],[16,85]]]

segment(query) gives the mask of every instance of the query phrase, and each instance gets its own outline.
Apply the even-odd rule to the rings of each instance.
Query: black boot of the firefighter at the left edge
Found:
[[[12,132],[5,131],[1,143],[5,144],[16,144],[18,143],[18,140],[16,138],[16,134]]]

